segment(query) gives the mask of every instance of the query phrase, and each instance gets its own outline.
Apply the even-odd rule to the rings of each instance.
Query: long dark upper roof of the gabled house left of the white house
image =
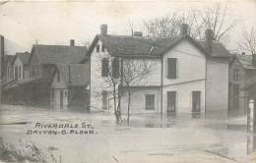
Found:
[[[85,46],[34,44],[32,47],[32,53],[41,64],[77,64],[85,58],[87,51]]]

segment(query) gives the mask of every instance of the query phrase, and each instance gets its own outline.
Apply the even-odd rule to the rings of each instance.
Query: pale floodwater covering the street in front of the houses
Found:
[[[54,157],[48,162],[245,163],[256,160],[255,154],[248,154],[247,150],[251,141],[246,134],[246,117],[205,119],[202,115],[192,118],[189,114],[161,118],[159,115],[134,115],[128,126],[126,123],[117,125],[113,115],[98,111],[0,107],[0,135],[4,141],[20,146],[35,144],[39,150]],[[69,126],[64,131],[94,133],[64,135],[62,129],[57,129],[60,132],[57,135],[27,135],[28,130],[54,131],[35,128],[36,123],[78,124],[79,128]],[[92,126],[83,129],[82,123]]]

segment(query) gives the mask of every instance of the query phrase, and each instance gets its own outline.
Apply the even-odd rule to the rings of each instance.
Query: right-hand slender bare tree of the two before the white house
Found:
[[[132,86],[142,84],[152,71],[152,64],[145,60],[124,59],[122,61],[122,86],[128,93],[127,103],[127,122],[130,121],[130,104],[132,95]]]

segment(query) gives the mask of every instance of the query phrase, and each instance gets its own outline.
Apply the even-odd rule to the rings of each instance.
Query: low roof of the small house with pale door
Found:
[[[56,68],[68,86],[86,86],[90,82],[90,64],[56,64]]]

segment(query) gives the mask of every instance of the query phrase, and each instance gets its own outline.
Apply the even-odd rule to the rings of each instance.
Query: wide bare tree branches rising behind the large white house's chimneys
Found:
[[[155,18],[144,22],[148,35],[153,38],[177,37],[181,24],[190,28],[188,34],[193,38],[202,39],[206,28],[214,31],[214,40],[220,41],[237,25],[238,20],[230,19],[227,15],[227,6],[217,3],[205,10],[189,9],[183,12],[174,12],[172,15]]]

